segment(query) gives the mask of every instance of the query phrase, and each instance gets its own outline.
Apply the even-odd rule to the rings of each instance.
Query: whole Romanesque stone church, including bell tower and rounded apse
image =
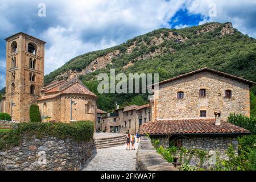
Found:
[[[2,112],[30,121],[30,105],[38,104],[43,122],[96,122],[97,96],[77,78],[44,86],[46,42],[22,32],[6,39],[6,94]]]

